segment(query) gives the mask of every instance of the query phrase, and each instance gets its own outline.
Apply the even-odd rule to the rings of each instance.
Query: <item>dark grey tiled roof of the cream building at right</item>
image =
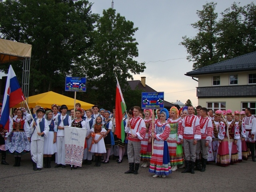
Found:
[[[256,52],[241,55],[190,72],[186,76],[256,70]]]

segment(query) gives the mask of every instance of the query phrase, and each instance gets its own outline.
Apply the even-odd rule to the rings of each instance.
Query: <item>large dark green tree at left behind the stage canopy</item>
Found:
[[[30,90],[64,86],[64,77],[92,45],[97,15],[87,0],[6,0],[0,2],[1,38],[32,44]],[[8,65],[1,65],[6,72]],[[12,63],[21,72],[20,62]],[[20,74],[21,76],[21,74]],[[30,94],[31,94],[30,93]]]

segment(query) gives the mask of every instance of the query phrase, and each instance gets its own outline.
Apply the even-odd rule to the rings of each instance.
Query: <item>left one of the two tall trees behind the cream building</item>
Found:
[[[196,14],[200,20],[191,24],[198,33],[193,38],[183,36],[183,45],[188,52],[187,59],[194,62],[193,69],[198,69],[218,62],[216,53],[216,35],[217,35],[217,17],[215,12],[216,4],[214,2],[206,3],[203,10],[197,10]]]

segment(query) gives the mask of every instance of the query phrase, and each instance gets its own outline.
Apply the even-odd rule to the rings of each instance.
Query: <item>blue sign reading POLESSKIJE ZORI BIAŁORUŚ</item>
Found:
[[[163,109],[164,108],[164,92],[147,93],[142,92],[142,109]]]

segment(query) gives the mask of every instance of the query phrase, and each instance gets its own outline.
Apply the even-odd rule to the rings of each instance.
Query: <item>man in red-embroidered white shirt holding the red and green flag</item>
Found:
[[[138,174],[140,166],[141,140],[143,140],[146,135],[146,124],[144,120],[139,116],[140,107],[134,106],[133,114],[134,117],[127,122],[127,125],[125,127],[125,132],[129,134],[127,147],[129,170],[125,172],[126,174]]]

